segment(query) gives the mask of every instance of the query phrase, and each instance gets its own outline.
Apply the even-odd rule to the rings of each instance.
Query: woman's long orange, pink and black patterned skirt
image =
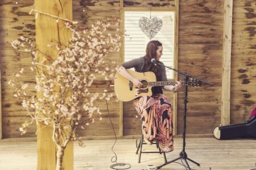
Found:
[[[134,99],[134,107],[141,116],[144,139],[159,142],[159,147],[164,152],[174,150],[170,100],[163,94],[141,96]]]

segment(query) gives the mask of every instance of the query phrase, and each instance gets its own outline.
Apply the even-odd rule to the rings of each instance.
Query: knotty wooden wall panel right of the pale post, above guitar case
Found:
[[[255,1],[233,1],[230,124],[249,119],[256,107]]]

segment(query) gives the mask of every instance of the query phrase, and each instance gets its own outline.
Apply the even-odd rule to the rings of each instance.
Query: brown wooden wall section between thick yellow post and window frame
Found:
[[[73,1],[73,20],[78,22],[80,28],[90,28],[94,22],[99,19],[111,18],[112,16],[119,18],[119,1]],[[117,26],[111,26],[108,28],[107,33],[115,35],[117,32]],[[115,61],[120,62],[119,52],[112,52],[106,57],[106,63],[109,63],[110,69],[114,69],[114,65],[111,63]],[[97,80],[94,82],[91,90],[97,92],[103,92],[113,82],[105,81],[104,76],[96,76]],[[114,92],[114,87],[109,88],[109,93]],[[106,108],[106,101],[101,100],[98,102],[98,106],[102,112],[102,121],[96,121],[94,124],[90,124],[85,130],[78,130],[80,136],[111,136],[114,135],[112,125],[109,120],[108,111]],[[115,133],[119,135],[119,102],[114,98],[108,101],[108,108],[110,118],[113,122]]]

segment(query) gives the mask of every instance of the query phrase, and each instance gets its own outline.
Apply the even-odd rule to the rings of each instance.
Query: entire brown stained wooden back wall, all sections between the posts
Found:
[[[33,6],[32,0],[20,0],[18,5],[11,0],[0,2],[1,35],[1,84],[2,84],[2,137],[35,137],[36,126],[27,134],[20,136],[18,128],[27,119],[26,111],[16,100],[13,89],[7,85],[10,76],[20,67],[28,67],[30,57],[24,53],[15,53],[10,42],[19,36],[33,36],[35,18],[28,12]],[[175,7],[175,1],[125,0],[123,7]],[[231,98],[230,123],[246,121],[256,106],[255,92],[255,17],[254,1],[233,1],[232,61],[231,61]],[[120,2],[110,0],[73,1],[73,20],[80,27],[90,27],[97,19],[120,15]],[[179,64],[178,68],[186,73],[198,76],[214,84],[213,87],[188,87],[187,134],[212,134],[220,124],[221,118],[221,79],[222,79],[222,42],[224,27],[224,1],[199,0],[179,2]],[[114,27],[110,33],[116,33]],[[118,32],[117,32],[118,33]],[[22,56],[22,57],[20,57]],[[120,53],[111,53],[108,62],[121,62]],[[35,75],[27,72],[24,81],[31,84],[31,94]],[[179,75],[179,79],[183,76]],[[104,90],[112,82],[99,78],[93,85],[93,91]],[[110,88],[113,92],[113,88]],[[167,93],[172,99],[172,93]],[[184,91],[178,94],[177,134],[183,133]],[[110,117],[115,132],[119,135],[119,103],[109,101]],[[82,136],[114,135],[108,119],[105,101],[100,103],[104,119],[95,122],[86,130],[79,131]],[[123,135],[141,134],[141,122],[136,118],[132,103],[123,107]],[[122,127],[121,127],[122,128]]]

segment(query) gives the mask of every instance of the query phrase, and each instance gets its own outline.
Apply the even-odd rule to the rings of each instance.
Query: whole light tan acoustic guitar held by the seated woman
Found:
[[[121,101],[130,101],[139,96],[152,96],[151,88],[154,86],[175,86],[175,81],[163,81],[163,82],[156,82],[155,73],[148,71],[144,73],[138,73],[137,71],[127,69],[128,73],[138,80],[141,81],[143,86],[141,88],[137,88],[134,86],[133,82],[123,77],[121,74],[115,74],[114,79],[114,90],[115,95]],[[190,86],[201,86],[201,82],[198,80],[190,80],[187,84],[184,81],[181,83],[183,85],[190,85]]]

